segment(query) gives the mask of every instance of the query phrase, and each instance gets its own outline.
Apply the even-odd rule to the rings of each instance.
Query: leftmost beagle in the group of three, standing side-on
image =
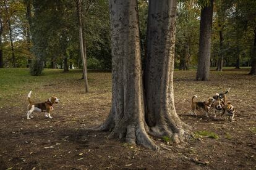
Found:
[[[197,115],[195,110],[205,110],[205,115],[208,116],[208,112],[211,108],[211,105],[215,102],[215,99],[209,98],[206,102],[194,102],[194,98],[197,98],[197,95],[194,95],[191,100],[191,114]]]

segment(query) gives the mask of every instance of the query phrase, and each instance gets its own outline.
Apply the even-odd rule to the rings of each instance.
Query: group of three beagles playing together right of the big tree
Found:
[[[230,91],[230,88],[226,92],[216,93],[213,97],[210,97],[205,102],[195,102],[194,98],[197,98],[197,95],[194,95],[191,100],[191,114],[197,115],[195,110],[204,110],[207,117],[211,109],[213,109],[214,117],[216,118],[217,113],[220,113],[221,116],[228,116],[229,121],[234,120],[234,114],[236,108],[228,102],[227,94]]]

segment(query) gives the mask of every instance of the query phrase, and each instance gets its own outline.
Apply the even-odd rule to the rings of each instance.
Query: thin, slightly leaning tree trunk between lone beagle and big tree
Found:
[[[81,55],[82,63],[83,63],[83,79],[85,80],[85,92],[88,92],[89,87],[88,87],[87,63],[86,63],[86,46],[85,46],[85,38],[83,38],[81,2],[82,2],[82,0],[76,0],[77,18],[79,20],[78,26],[79,26],[80,55]]]

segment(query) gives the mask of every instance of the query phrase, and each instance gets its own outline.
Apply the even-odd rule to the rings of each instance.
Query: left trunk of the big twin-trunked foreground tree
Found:
[[[148,137],[142,87],[142,65],[137,0],[110,0],[112,38],[112,108],[99,129],[156,150]]]

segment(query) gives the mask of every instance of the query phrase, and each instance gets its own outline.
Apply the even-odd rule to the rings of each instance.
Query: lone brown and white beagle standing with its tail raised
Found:
[[[59,103],[59,99],[57,97],[50,97],[48,100],[45,102],[41,103],[33,103],[32,100],[30,99],[32,91],[28,93],[28,112],[27,112],[27,119],[33,118],[31,115],[33,111],[40,111],[40,112],[45,112],[46,118],[53,118],[51,116],[51,110],[53,110],[53,104],[54,103]]]

